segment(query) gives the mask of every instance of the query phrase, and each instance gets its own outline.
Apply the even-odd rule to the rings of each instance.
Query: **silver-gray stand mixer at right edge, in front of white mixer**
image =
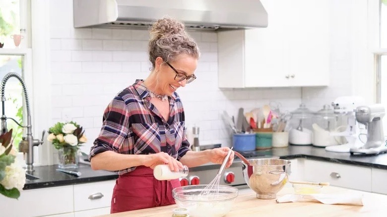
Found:
[[[356,120],[366,126],[367,142],[362,147],[351,148],[351,155],[378,155],[387,152],[384,138],[382,118],[385,116],[385,108],[382,104],[372,106],[360,106],[355,109]]]

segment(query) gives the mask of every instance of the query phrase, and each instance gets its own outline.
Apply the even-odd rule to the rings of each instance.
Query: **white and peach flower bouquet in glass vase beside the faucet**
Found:
[[[58,150],[63,150],[64,163],[76,164],[77,151],[82,143],[87,142],[84,130],[73,121],[58,122],[49,128],[50,135],[47,140],[50,141]]]

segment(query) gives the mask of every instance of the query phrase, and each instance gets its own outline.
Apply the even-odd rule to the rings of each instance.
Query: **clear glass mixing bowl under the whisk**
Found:
[[[222,217],[230,212],[238,189],[219,185],[219,194],[202,195],[207,185],[188,185],[172,190],[173,198],[180,208],[186,208],[192,217]],[[212,192],[212,191],[211,191]]]

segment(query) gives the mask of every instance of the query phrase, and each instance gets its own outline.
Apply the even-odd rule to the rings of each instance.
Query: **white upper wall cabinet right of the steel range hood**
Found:
[[[329,1],[261,2],[267,28],[218,33],[218,86],[327,86]]]

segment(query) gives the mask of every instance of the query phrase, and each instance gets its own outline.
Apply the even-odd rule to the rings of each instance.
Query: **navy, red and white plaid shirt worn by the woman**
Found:
[[[180,160],[189,151],[182,102],[175,92],[169,98],[169,119],[164,120],[151,104],[150,94],[141,80],[122,90],[103,115],[101,132],[91,147],[89,159],[113,151],[126,155],[168,153]],[[129,167],[116,171],[124,174]]]

